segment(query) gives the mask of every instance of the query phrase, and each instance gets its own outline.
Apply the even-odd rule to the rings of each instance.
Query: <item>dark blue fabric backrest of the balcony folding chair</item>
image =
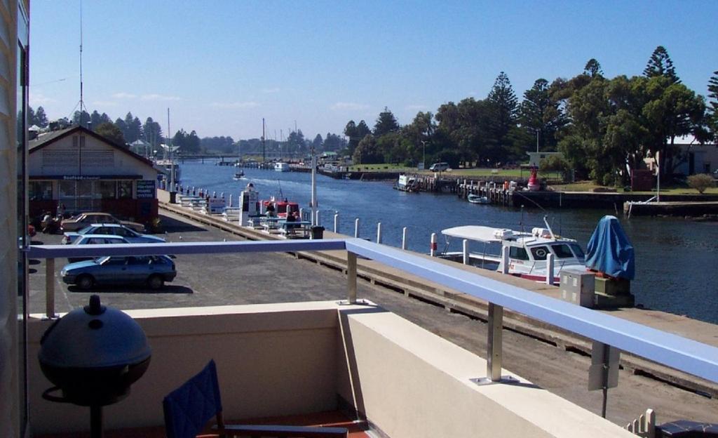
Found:
[[[167,438],[195,438],[213,416],[222,413],[214,360],[162,401]]]

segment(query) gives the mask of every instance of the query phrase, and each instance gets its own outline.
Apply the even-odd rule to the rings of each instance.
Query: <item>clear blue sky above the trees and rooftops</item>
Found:
[[[89,111],[153,117],[167,132],[341,134],[387,106],[401,124],[484,99],[505,71],[519,99],[538,78],[640,75],[663,45],[705,95],[718,70],[718,1],[84,1]],[[30,104],[50,119],[80,100],[80,1],[34,0]],[[713,35],[713,36],[711,36]],[[276,133],[276,134],[275,134]]]

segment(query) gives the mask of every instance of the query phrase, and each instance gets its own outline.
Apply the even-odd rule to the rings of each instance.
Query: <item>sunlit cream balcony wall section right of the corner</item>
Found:
[[[635,437],[530,382],[476,385],[486,362],[386,311],[342,311],[338,392],[389,437]]]

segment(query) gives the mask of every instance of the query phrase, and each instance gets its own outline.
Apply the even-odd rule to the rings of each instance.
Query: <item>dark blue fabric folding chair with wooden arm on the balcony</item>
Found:
[[[195,438],[216,417],[220,437],[236,435],[277,438],[346,438],[344,427],[224,424],[214,360],[162,401],[167,438]]]

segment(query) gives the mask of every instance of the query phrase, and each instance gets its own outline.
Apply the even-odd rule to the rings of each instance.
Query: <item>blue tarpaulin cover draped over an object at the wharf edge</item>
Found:
[[[616,278],[633,280],[635,257],[633,245],[626,237],[616,216],[603,216],[586,247],[586,268]]]

